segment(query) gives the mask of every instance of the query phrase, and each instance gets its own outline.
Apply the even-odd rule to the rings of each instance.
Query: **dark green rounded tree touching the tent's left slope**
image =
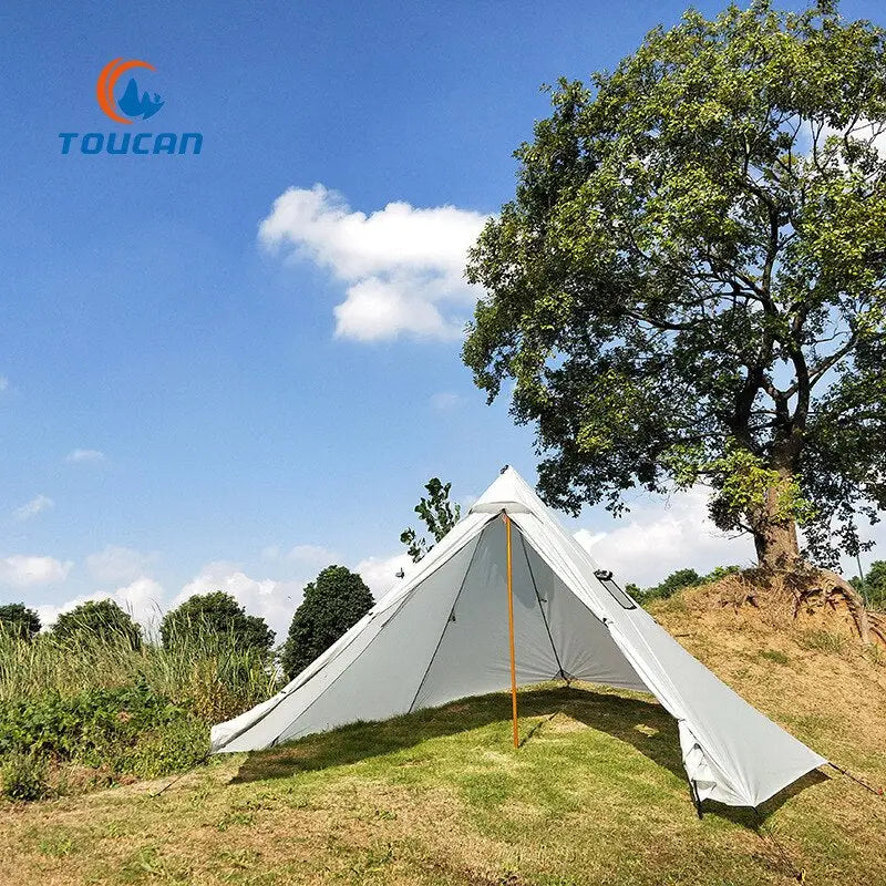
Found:
[[[284,646],[282,667],[291,680],[322,655],[371,608],[363,579],[346,566],[327,566],[305,588]]]

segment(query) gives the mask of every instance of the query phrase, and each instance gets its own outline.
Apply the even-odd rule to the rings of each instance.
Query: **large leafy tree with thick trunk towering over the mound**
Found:
[[[694,11],[560,80],[467,277],[463,357],[577,513],[697,482],[766,567],[886,508],[886,32],[823,0]],[[883,141],[879,142],[883,144]],[[844,583],[845,585],[845,583]],[[848,589],[851,591],[851,589]]]

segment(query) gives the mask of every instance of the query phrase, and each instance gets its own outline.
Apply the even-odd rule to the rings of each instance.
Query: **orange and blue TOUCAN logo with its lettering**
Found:
[[[141,59],[112,59],[102,68],[95,81],[95,99],[102,113],[113,123],[132,126],[136,121],[151,120],[166,104],[157,92],[141,90],[134,75],[124,80],[131,71],[138,71],[141,78],[146,72],[156,72],[153,64]],[[151,76],[148,76],[148,82]],[[117,96],[121,86],[126,84]],[[203,133],[199,132],[87,132],[82,137],[76,132],[60,132],[62,154],[199,154],[203,148]]]

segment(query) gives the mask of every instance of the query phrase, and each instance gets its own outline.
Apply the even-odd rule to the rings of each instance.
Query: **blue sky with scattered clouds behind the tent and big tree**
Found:
[[[682,10],[6,3],[0,599],[226,587],[280,628],[330,558],[380,588],[429,476],[533,480],[530,431],[459,359],[460,249],[513,194],[539,84]],[[132,128],[200,132],[199,156],[61,154],[123,128],[95,101],[117,56],[166,102]],[[751,556],[698,542],[698,496],[637,504],[576,525],[626,580]]]

